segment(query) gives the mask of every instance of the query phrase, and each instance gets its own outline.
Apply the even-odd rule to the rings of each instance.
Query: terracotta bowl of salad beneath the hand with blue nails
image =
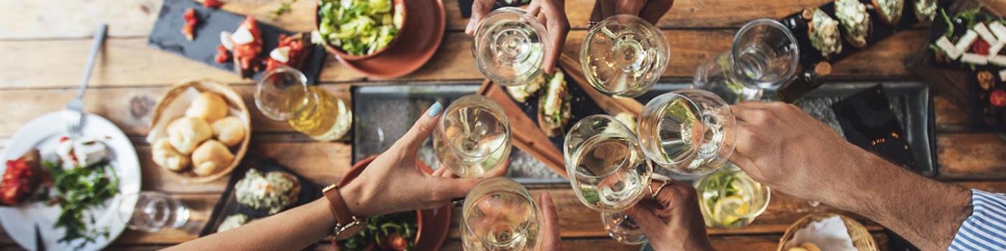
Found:
[[[346,175],[339,180],[339,186],[345,186],[350,181],[359,177],[363,170],[370,166],[370,163],[377,159],[377,156],[364,158],[353,165],[353,168],[346,172]],[[433,174],[433,169],[422,161],[415,161],[415,166],[427,174]],[[451,230],[451,205],[438,209],[416,210],[415,211],[415,245],[414,250],[440,250],[447,233]]]

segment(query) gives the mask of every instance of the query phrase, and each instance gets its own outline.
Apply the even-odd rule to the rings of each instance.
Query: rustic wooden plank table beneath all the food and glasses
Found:
[[[420,70],[393,80],[370,80],[328,57],[322,71],[322,86],[349,98],[351,85],[405,82],[477,82],[483,76],[473,63],[471,39],[463,32],[467,19],[460,16],[456,0],[443,0],[448,25],[444,43],[436,56]],[[671,62],[666,79],[690,79],[695,67],[728,49],[730,37],[744,22],[756,18],[782,18],[804,7],[828,0],[677,0],[658,26],[671,44]],[[253,14],[262,21],[295,31],[313,27],[312,0],[300,0],[291,13],[268,18],[281,0],[224,0],[223,9]],[[0,0],[0,143],[35,116],[58,110],[76,92],[78,78],[91,43],[95,24],[108,22],[110,37],[98,57],[86,98],[86,109],[108,117],[123,129],[137,147],[143,169],[143,190],[164,191],[183,200],[197,215],[208,215],[224,189],[224,180],[209,184],[182,185],[155,166],[148,134],[151,110],[166,86],[188,77],[210,77],[233,85],[253,104],[253,82],[236,74],[159,51],[146,45],[146,37],[157,17],[158,0]],[[567,0],[566,13],[572,30],[564,53],[577,55],[586,31],[593,0]],[[829,79],[910,80],[906,55],[925,46],[925,27],[912,28],[873,45],[834,65]],[[206,34],[215,35],[215,34]],[[1006,140],[995,134],[976,132],[967,126],[967,113],[939,93],[936,97],[937,142],[940,176],[937,179],[967,188],[1006,192]],[[294,133],[253,110],[252,153],[278,159],[319,184],[337,181],[350,167],[351,147],[346,142],[317,143]],[[582,206],[568,185],[533,187],[532,193],[548,192],[558,209],[563,247],[568,250],[638,250],[608,238],[597,212]],[[807,202],[776,193],[769,209],[748,227],[710,230],[720,250],[775,250],[786,228],[797,219],[818,212],[836,212],[828,206],[810,207]],[[886,246],[883,227],[857,217]],[[445,249],[459,250],[455,230]],[[25,230],[30,231],[30,230]],[[178,230],[142,233],[127,230],[113,249],[156,249],[196,236]],[[327,248],[323,246],[322,248]],[[19,249],[6,234],[0,234],[0,249]]]

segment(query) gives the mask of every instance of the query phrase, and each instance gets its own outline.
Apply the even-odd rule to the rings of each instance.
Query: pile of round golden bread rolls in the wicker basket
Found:
[[[243,120],[228,115],[227,101],[220,94],[201,92],[185,110],[185,115],[167,127],[167,138],[154,141],[154,163],[173,172],[210,176],[234,162],[231,148],[244,141]]]

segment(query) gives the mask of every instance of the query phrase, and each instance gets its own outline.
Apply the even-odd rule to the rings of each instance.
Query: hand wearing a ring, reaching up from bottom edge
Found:
[[[705,221],[698,207],[695,188],[688,184],[668,181],[652,183],[657,196],[645,196],[629,208],[629,215],[643,229],[654,250],[713,250],[705,233]]]

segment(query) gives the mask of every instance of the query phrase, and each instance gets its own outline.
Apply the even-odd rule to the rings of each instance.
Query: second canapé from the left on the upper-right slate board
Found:
[[[858,0],[835,1],[835,17],[842,23],[845,40],[857,48],[866,47],[866,37],[870,34],[870,15],[866,5]]]

